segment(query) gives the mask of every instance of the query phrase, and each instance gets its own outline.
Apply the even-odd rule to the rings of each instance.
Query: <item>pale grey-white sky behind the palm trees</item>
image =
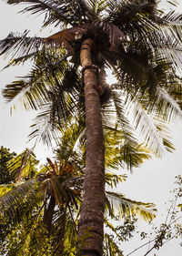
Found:
[[[165,1],[164,1],[165,3]],[[163,6],[167,6],[163,4]],[[34,28],[35,33],[38,33],[40,16],[35,15],[21,15],[17,11],[21,9],[19,6],[5,5],[0,3],[0,39],[5,38],[11,31],[23,32],[25,29]],[[180,8],[177,9],[182,12],[182,2]],[[55,33],[55,31],[54,31]],[[39,34],[38,34],[39,35]],[[41,36],[47,36],[42,33]],[[0,59],[0,70],[5,67],[6,62]],[[15,80],[15,76],[21,77],[27,74],[29,65],[22,67],[12,67],[0,72],[0,88],[5,87],[5,84]],[[10,148],[20,153],[26,147],[31,148],[34,142],[26,143],[27,136],[30,132],[31,119],[35,117],[34,113],[25,112],[18,107],[14,111],[13,116],[10,117],[10,108],[5,104],[5,100],[0,95],[0,146]],[[152,201],[157,204],[159,213],[163,214],[166,208],[165,202],[169,199],[169,191],[173,189],[175,177],[181,174],[181,159],[182,159],[182,121],[178,120],[171,125],[172,133],[174,135],[174,144],[177,150],[173,154],[167,154],[163,159],[153,159],[147,161],[140,169],[134,169],[133,174],[129,174],[130,178],[121,186],[121,193],[125,193],[127,197],[133,200]],[[39,145],[35,148],[35,154],[38,159],[45,162],[46,157],[50,157],[50,151],[44,146]],[[165,220],[159,214],[160,220]],[[134,250],[139,241],[134,241],[133,244],[129,241],[126,245],[126,252]],[[143,242],[141,242],[142,244]],[[147,249],[145,250],[147,251]],[[138,251],[133,253],[134,256],[143,256],[144,252]],[[152,252],[149,255],[154,255]],[[168,242],[162,249],[156,252],[157,256],[181,256],[182,247],[179,242]]]

